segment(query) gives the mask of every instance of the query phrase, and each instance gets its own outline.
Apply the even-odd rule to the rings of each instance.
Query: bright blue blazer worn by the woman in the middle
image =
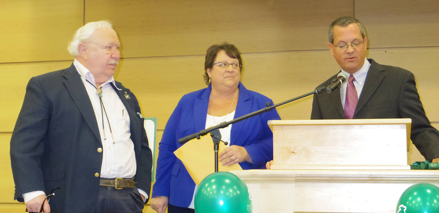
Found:
[[[273,104],[266,96],[245,89],[241,82],[238,87],[239,98],[234,118],[263,109],[266,102]],[[205,129],[211,90],[209,85],[184,95],[169,117],[158,147],[152,197],[166,196],[174,206],[188,207],[191,204],[195,183],[173,152],[182,146],[178,139]],[[230,145],[243,146],[253,161],[253,164],[239,163],[242,169],[264,169],[266,162],[273,160],[273,133],[267,121],[280,119],[276,109],[273,109],[232,125]]]

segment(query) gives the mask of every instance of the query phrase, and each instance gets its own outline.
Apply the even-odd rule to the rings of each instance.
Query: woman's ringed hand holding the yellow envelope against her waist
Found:
[[[235,163],[241,163],[247,161],[249,163],[253,163],[252,158],[247,153],[242,146],[232,145],[224,149],[221,153],[219,153],[219,161],[223,161],[221,163],[223,166],[231,166]]]

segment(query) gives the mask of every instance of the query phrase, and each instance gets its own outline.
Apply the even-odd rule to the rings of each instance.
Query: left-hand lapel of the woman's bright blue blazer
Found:
[[[196,97],[194,101],[194,124],[195,131],[199,132],[206,127],[207,108],[209,107],[209,97],[212,91],[212,85],[209,85],[200,97]]]

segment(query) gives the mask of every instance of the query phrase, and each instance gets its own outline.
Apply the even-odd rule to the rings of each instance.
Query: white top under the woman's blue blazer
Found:
[[[207,128],[212,127],[212,126],[216,126],[216,125],[218,125],[218,124],[220,124],[220,123],[222,123],[224,121],[231,121],[231,120],[233,120],[233,117],[235,116],[235,111],[233,111],[230,114],[227,114],[225,116],[222,116],[222,117],[215,117],[215,116],[212,116],[212,115],[207,115],[206,116],[206,126],[205,126],[205,128],[207,129]],[[219,122],[219,123],[216,123],[215,121]],[[221,140],[227,141],[228,142],[227,146],[230,145],[230,130],[231,129],[232,129],[232,124],[230,124],[226,128],[219,129],[219,133],[221,133]],[[213,167],[213,165],[212,165],[212,167]],[[197,192],[197,188],[198,188],[198,186],[195,185],[194,195],[192,195],[191,205],[189,205],[187,208],[195,209],[194,201],[195,201],[195,192]]]

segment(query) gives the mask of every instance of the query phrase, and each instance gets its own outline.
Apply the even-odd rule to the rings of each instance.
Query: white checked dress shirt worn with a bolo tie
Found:
[[[93,106],[97,126],[101,135],[103,157],[100,177],[133,178],[136,174],[137,164],[134,144],[130,138],[130,117],[119,95],[113,89],[112,85],[110,85],[110,83],[113,83],[113,85],[116,86],[113,76],[99,86],[99,88],[102,89],[104,110],[104,108],[101,108],[101,100],[96,92],[94,76],[76,59],[73,65],[76,67],[79,75],[81,75],[81,80],[86,88],[91,105]],[[116,87],[116,89],[119,88]],[[139,192],[144,195],[145,198],[148,198],[148,194],[143,190],[139,189]],[[36,191],[25,193],[23,194],[23,199],[27,202],[41,194],[44,194],[44,192]]]

